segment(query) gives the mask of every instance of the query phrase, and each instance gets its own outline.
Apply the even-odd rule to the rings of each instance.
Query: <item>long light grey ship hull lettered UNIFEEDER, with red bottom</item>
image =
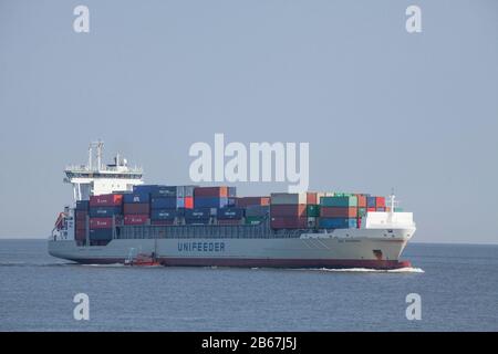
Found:
[[[79,263],[124,263],[132,250],[152,254],[163,266],[247,268],[409,267],[400,261],[412,229],[349,230],[299,238],[114,239],[106,246],[77,247],[74,241],[49,241],[50,254]]]

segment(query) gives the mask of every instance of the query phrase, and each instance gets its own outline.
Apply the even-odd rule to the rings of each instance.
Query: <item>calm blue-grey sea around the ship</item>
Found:
[[[498,246],[409,243],[402,259],[413,268],[80,266],[6,239],[0,331],[498,331]]]

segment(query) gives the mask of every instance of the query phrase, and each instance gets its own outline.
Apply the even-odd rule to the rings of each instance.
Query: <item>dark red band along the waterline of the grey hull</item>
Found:
[[[118,258],[73,259],[85,264],[124,263]],[[347,259],[243,259],[243,258],[159,258],[167,267],[243,267],[243,268],[369,268],[400,269],[412,267],[409,261]]]

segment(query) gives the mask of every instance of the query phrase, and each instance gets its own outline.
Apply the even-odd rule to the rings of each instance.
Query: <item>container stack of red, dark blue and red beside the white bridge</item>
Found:
[[[89,206],[90,241],[95,243],[111,240],[114,222],[123,208],[123,195],[91,196]]]

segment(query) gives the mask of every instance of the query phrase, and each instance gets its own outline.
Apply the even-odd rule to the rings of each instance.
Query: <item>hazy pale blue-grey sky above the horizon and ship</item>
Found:
[[[49,236],[90,140],[186,184],[224,133],[309,142],[310,189],[394,187],[416,241],[498,242],[496,0],[0,0],[0,119],[4,238]]]

